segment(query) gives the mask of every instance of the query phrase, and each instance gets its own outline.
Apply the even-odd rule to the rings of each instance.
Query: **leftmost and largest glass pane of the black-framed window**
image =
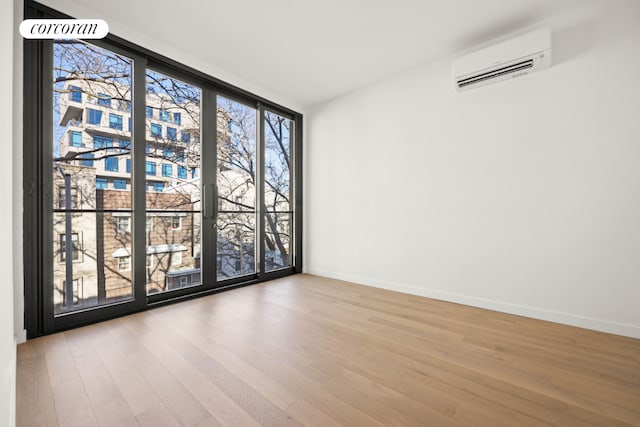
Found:
[[[61,40],[53,44],[53,68],[53,303],[60,314],[133,295],[130,226],[120,219],[131,217],[132,61]]]

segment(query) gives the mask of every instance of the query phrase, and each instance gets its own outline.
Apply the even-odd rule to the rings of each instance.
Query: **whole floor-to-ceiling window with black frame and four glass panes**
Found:
[[[115,37],[26,41],[25,100],[30,337],[301,271],[300,114]]]

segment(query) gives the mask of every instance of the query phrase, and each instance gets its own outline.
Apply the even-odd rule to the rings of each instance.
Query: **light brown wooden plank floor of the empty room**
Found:
[[[298,275],[18,346],[18,426],[640,426],[640,340]]]

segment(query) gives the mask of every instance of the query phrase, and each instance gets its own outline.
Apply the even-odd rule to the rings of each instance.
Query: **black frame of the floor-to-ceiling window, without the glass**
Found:
[[[56,11],[48,6],[38,2],[26,0],[24,4],[24,19],[72,19],[73,17]],[[234,280],[220,283],[218,287],[207,289],[202,292],[193,293],[189,288],[177,289],[172,291],[171,298],[158,298],[157,295],[141,295],[135,293],[134,299],[137,301],[133,305],[126,306],[115,305],[108,307],[108,310],[88,310],[73,316],[63,316],[61,321],[54,322],[53,307],[53,288],[51,286],[51,268],[53,262],[57,262],[52,257],[53,233],[51,229],[52,215],[52,194],[50,176],[47,176],[49,161],[45,155],[45,145],[50,144],[52,140],[52,109],[53,96],[50,91],[51,79],[50,70],[52,59],[48,54],[51,53],[51,40],[24,40],[24,133],[23,142],[25,146],[25,156],[23,159],[23,177],[24,177],[24,259],[29,260],[24,266],[24,292],[25,292],[25,328],[27,330],[27,338],[35,338],[65,329],[70,329],[90,323],[99,322],[113,317],[144,311],[160,305],[169,304],[189,298],[195,298],[202,295],[208,295],[227,289],[240,286],[250,285],[254,283],[272,280],[279,277],[302,272],[302,136],[303,136],[303,115],[278,103],[274,103],[259,95],[251,93],[242,88],[238,88],[232,84],[219,80],[209,74],[198,71],[192,67],[179,63],[166,56],[157,54],[149,49],[141,47],[135,43],[129,42],[116,35],[108,34],[102,40],[91,40],[93,44],[103,46],[107,49],[115,49],[125,52],[130,57],[142,58],[146,62],[147,68],[166,72],[186,78],[186,81],[196,84],[203,89],[213,91],[216,94],[237,99],[250,105],[255,105],[260,114],[259,120],[264,120],[264,111],[268,110],[277,113],[283,117],[292,120],[294,144],[291,147],[291,158],[293,159],[291,171],[292,184],[292,206],[294,211],[294,220],[292,224],[293,240],[290,250],[291,267],[271,272],[264,272],[259,268],[259,272],[250,278],[238,278]],[[135,71],[135,72],[140,72]],[[144,70],[142,70],[144,74]],[[144,92],[138,92],[144,93]],[[135,94],[134,94],[135,96]],[[211,102],[211,101],[209,101]],[[213,101],[215,103],[215,100]],[[211,104],[210,104],[211,106]],[[144,103],[138,102],[138,106],[134,105],[137,114],[136,121],[142,122],[147,118]],[[100,111],[100,110],[98,110]],[[88,121],[88,111],[87,121]],[[102,114],[101,114],[102,115]],[[135,124],[134,124],[135,126]],[[138,133],[140,135],[140,133]],[[263,136],[261,136],[263,137]],[[144,149],[143,149],[144,150]],[[144,158],[138,159],[142,161],[141,165],[135,166],[131,160],[131,169],[144,172]],[[142,173],[138,180],[141,181],[140,188],[145,187],[146,176]],[[132,183],[133,186],[133,183]],[[136,207],[133,206],[135,209]],[[264,211],[264,207],[261,209]],[[138,218],[143,226],[146,218],[141,216]],[[133,220],[131,221],[132,225]],[[257,244],[262,244],[264,240],[264,230],[261,231]],[[139,246],[140,242],[134,244]],[[142,244],[144,247],[144,243]],[[264,252],[262,252],[264,258]],[[144,274],[146,265],[146,256],[132,260],[136,265],[132,264],[132,270],[135,275]],[[264,265],[264,259],[260,260],[261,266]],[[202,273],[201,273],[202,274]],[[214,275],[215,276],[215,275]],[[136,280],[134,278],[134,280]],[[134,290],[134,292],[137,292]]]

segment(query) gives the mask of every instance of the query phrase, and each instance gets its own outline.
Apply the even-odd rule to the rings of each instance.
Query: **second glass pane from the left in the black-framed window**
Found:
[[[147,70],[147,293],[200,284],[201,90]]]

